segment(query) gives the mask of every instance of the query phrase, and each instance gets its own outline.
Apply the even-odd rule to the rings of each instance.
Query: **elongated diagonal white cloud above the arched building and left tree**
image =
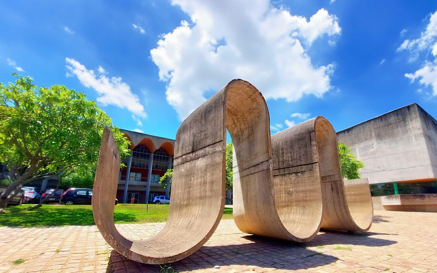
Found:
[[[132,93],[131,87],[123,82],[121,77],[97,76],[94,70],[87,69],[74,59],[65,58],[65,61],[68,69],[66,76],[76,75],[83,86],[96,90],[100,95],[97,97],[98,102],[125,108],[139,117],[147,117],[138,96]]]

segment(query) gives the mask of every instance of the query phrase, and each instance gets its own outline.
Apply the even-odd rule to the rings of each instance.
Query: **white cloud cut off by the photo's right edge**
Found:
[[[423,86],[431,86],[433,95],[437,96],[437,11],[430,14],[427,27],[421,32],[420,37],[413,40],[405,40],[396,51],[409,50],[409,61],[416,61],[424,55],[421,68],[414,73],[406,73],[405,76],[411,82],[418,82]],[[421,54],[425,52],[425,54]],[[431,54],[428,54],[431,52]]]

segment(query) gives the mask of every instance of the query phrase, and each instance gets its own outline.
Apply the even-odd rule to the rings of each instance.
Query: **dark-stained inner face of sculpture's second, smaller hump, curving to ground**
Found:
[[[322,224],[322,190],[314,124],[271,136],[274,198],[279,218],[295,241],[309,241]]]

